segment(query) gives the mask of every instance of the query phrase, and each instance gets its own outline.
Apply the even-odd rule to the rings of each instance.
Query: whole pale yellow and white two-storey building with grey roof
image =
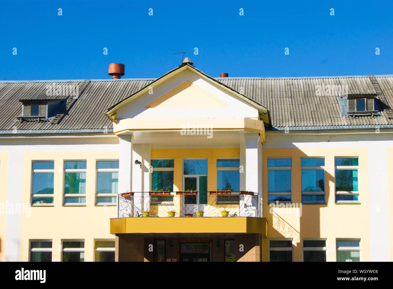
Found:
[[[391,87],[2,81],[0,261],[393,261]]]

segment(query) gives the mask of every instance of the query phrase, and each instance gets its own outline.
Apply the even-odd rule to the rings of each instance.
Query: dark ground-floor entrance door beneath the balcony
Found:
[[[210,262],[210,243],[180,243],[180,262]]]

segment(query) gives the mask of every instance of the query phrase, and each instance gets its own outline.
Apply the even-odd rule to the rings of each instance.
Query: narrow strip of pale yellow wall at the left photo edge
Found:
[[[4,261],[6,239],[6,201],[7,201],[7,173],[8,153],[0,152],[0,206],[4,212],[0,212],[0,262]]]

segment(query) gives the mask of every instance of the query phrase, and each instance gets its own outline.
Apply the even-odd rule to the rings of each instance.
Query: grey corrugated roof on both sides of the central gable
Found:
[[[270,110],[273,127],[331,127],[353,125],[393,125],[384,112],[380,116],[341,116],[336,96],[317,96],[316,85],[348,85],[349,94],[375,94],[367,76],[354,77],[226,77],[218,81]],[[393,105],[393,76],[376,79],[390,107]],[[103,113],[108,107],[137,92],[154,79],[92,80],[59,124],[49,121],[20,123],[20,99],[46,98],[46,85],[79,84],[83,80],[1,81],[0,131],[111,130],[112,122]],[[62,97],[64,98],[64,97]]]

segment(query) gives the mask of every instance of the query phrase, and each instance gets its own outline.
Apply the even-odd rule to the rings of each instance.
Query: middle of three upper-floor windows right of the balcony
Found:
[[[325,159],[301,158],[301,202],[325,203]]]

